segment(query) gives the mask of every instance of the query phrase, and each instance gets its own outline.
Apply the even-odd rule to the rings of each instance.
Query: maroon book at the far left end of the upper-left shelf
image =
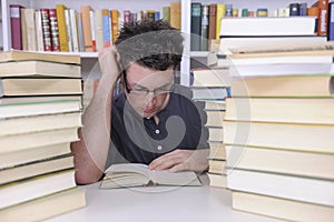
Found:
[[[11,48],[22,50],[20,4],[10,4]]]

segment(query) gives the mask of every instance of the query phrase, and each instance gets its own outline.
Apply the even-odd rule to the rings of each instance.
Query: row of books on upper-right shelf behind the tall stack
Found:
[[[331,3],[332,4],[332,3]],[[296,16],[303,17],[314,17],[315,26],[312,30],[312,33],[316,33],[317,36],[327,36],[331,37],[328,26],[331,22],[330,9],[331,4],[328,4],[328,0],[315,1],[314,4],[307,6],[307,3],[289,3],[285,8],[276,9],[271,13],[264,13],[267,9],[258,9],[256,17],[257,18],[292,18]],[[191,23],[190,23],[190,49],[191,51],[213,51],[212,50],[212,41],[219,40],[222,34],[228,33],[228,28],[225,24],[225,18],[245,18],[245,17],[255,17],[254,12],[245,9],[233,8],[233,4],[224,4],[224,3],[200,3],[193,2],[191,3]],[[223,19],[223,20],[222,20]],[[255,20],[258,22],[259,20]],[[224,22],[224,23],[222,23]],[[235,21],[237,22],[237,21]],[[288,22],[293,23],[294,20],[286,20],[284,24]],[[274,24],[273,28],[277,28],[277,26],[283,26],[278,28],[284,28],[284,24]],[[259,29],[254,30],[254,32],[258,32],[257,36],[262,34],[262,31],[266,30],[266,27],[258,26]],[[298,27],[298,26],[295,26]],[[333,29],[333,28],[332,28]],[[244,32],[242,28],[239,30]],[[333,39],[333,38],[332,38]]]

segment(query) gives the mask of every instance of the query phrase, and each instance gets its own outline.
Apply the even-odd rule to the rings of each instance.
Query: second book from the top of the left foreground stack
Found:
[[[80,78],[81,67],[48,61],[0,62],[0,77],[66,77]]]

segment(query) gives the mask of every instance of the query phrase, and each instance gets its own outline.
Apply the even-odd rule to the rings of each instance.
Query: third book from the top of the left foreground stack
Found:
[[[2,78],[0,97],[82,94],[81,79]]]

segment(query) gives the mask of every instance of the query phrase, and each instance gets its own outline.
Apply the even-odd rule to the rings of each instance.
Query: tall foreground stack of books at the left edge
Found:
[[[70,142],[81,127],[80,58],[0,53],[0,218],[37,221],[86,205]]]

